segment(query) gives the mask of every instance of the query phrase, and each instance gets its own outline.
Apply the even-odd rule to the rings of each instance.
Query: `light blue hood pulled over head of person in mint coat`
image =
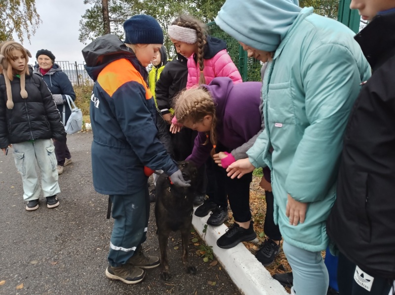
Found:
[[[247,46],[274,52],[301,10],[299,0],[227,0],[215,22]]]

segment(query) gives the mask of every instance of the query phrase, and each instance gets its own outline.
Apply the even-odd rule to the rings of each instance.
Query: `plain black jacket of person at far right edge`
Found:
[[[395,279],[395,13],[379,15],[356,41],[373,68],[344,138],[337,199],[327,232],[370,275]]]

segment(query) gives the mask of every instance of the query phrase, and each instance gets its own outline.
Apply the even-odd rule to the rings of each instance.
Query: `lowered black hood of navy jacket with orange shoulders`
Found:
[[[105,66],[119,59],[129,60],[144,80],[147,80],[147,69],[140,64],[134,52],[116,35],[107,34],[98,37],[82,49],[82,56],[86,63],[85,70],[93,81],[96,81],[97,76]]]

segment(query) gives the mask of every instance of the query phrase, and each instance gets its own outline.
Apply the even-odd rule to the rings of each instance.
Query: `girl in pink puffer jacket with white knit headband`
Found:
[[[188,59],[187,89],[197,84],[209,84],[215,77],[229,77],[234,84],[242,82],[241,75],[226,50],[226,42],[207,35],[204,24],[193,16],[178,16],[169,26],[167,33],[177,53]],[[178,124],[174,116],[170,131],[177,133],[180,130],[181,124]],[[204,200],[195,215],[203,217],[212,211],[207,224],[219,226],[228,219],[228,200],[215,178],[214,166],[214,162],[208,159],[205,168],[203,167],[208,180],[206,193],[198,194],[194,203],[201,204]],[[208,198],[204,199],[206,194]]]

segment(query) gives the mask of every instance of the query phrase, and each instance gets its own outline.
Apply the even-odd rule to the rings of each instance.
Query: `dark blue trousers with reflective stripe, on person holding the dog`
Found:
[[[133,195],[110,195],[113,203],[114,228],[108,261],[111,266],[125,264],[147,239],[150,196],[146,187]]]

